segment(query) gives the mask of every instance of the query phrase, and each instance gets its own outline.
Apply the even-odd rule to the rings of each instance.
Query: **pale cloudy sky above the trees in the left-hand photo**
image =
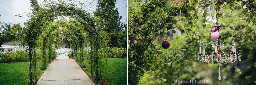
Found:
[[[37,0],[38,4],[42,4],[43,0]],[[85,5],[89,4],[91,6],[90,13],[96,10],[97,0],[80,0]],[[127,18],[127,0],[117,0],[116,7],[118,8],[119,15],[122,15],[120,22],[126,22]],[[0,0],[0,22],[7,22],[23,26],[23,22],[26,22],[28,16],[25,12],[31,12],[30,0]],[[22,16],[18,17],[15,15],[20,14]],[[93,15],[93,14],[92,14]]]

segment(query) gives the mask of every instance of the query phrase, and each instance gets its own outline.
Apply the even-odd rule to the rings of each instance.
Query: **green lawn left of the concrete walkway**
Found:
[[[37,80],[44,70],[43,62],[37,62]],[[47,66],[49,63],[47,63]],[[0,85],[26,85],[29,83],[29,62],[0,63]]]

